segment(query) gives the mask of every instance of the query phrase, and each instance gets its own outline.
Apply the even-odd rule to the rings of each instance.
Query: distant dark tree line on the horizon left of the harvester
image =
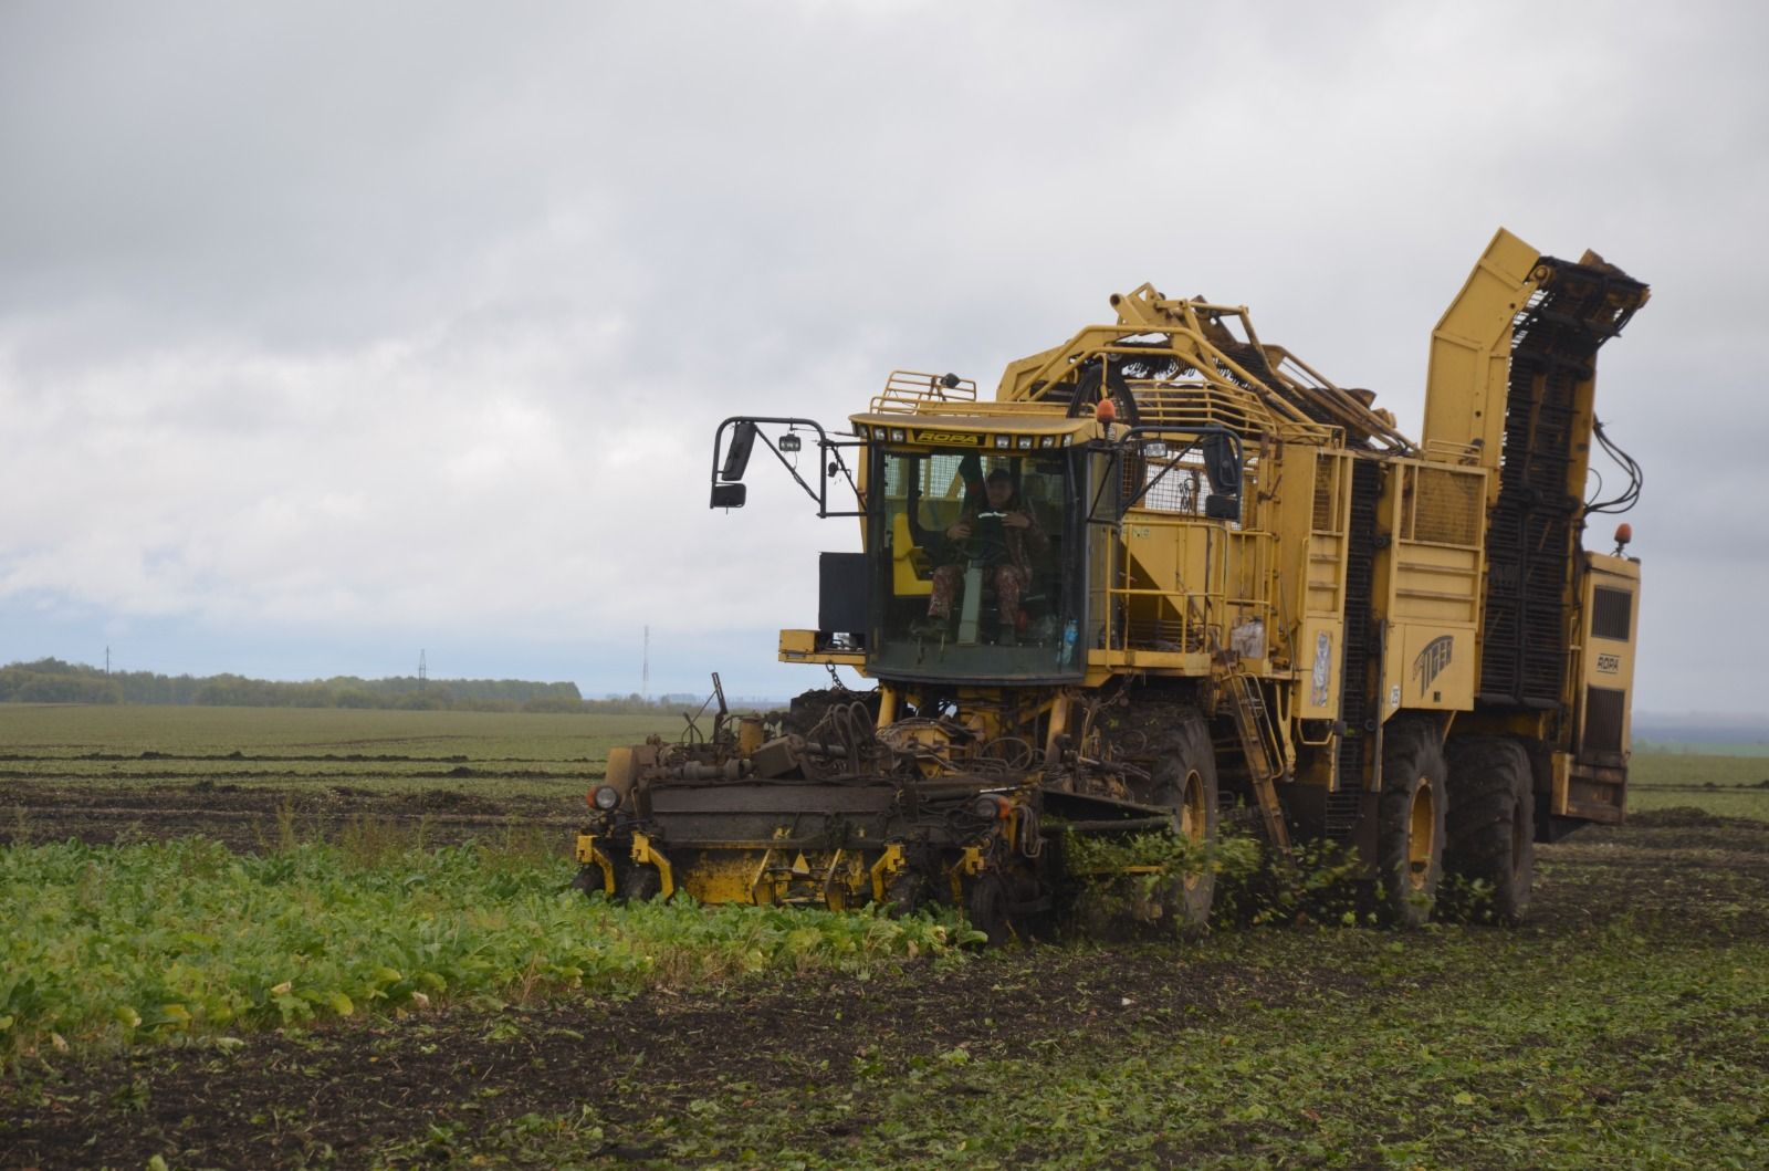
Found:
[[[104,672],[42,658],[0,667],[0,702],[14,704],[209,704],[216,708],[400,708],[407,711],[598,711],[644,713],[679,697],[584,699],[575,683],[525,679],[357,679],[272,683],[244,676]]]

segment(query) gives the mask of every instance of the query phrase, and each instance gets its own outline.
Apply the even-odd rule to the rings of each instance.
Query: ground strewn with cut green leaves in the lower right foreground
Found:
[[[658,1152],[655,1166],[1755,1166],[1764,1090],[1735,1077],[1762,1075],[1769,1040],[1741,1035],[1739,1014],[1762,1019],[1769,952],[1642,943],[1237,938],[1233,961],[1275,976],[1277,1003],[1022,1054],[862,1049],[816,1090],[732,1088],[619,1139]],[[1196,962],[1222,957],[1215,945]],[[865,1141],[831,1150],[826,1134],[860,1120]],[[610,1136],[499,1137],[486,1146],[568,1167],[603,1166]]]

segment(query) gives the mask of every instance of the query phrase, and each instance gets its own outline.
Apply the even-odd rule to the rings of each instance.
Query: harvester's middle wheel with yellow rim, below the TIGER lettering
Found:
[[[1431,720],[1399,718],[1383,731],[1376,801],[1376,886],[1394,927],[1431,920],[1444,877],[1444,745]]]

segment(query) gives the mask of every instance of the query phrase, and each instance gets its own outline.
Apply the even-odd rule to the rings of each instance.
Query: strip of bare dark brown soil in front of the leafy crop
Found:
[[[173,1166],[361,1166],[371,1153],[387,1159],[389,1143],[412,1143],[421,1164],[430,1127],[479,1132],[589,1106],[619,1136],[624,1123],[637,1132],[646,1116],[732,1084],[766,1091],[828,1070],[846,1077],[867,1049],[892,1061],[959,1045],[1005,1056],[1035,1038],[1109,1042],[1152,1019],[1194,1026],[1249,998],[1272,1005],[1304,992],[1321,994],[1318,978],[1175,964],[1171,952],[1035,948],[888,980],[463,1010],[257,1037],[228,1054],[142,1051],[25,1091],[9,1106],[14,1144],[0,1148],[0,1166],[140,1167],[156,1153]],[[665,1157],[617,1137],[605,1153]]]

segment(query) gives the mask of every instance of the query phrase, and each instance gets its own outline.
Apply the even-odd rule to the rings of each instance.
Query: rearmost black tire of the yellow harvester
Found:
[[[1509,736],[1449,743],[1449,844],[1444,867],[1493,888],[1493,916],[1521,923],[1535,881],[1530,757]]]

